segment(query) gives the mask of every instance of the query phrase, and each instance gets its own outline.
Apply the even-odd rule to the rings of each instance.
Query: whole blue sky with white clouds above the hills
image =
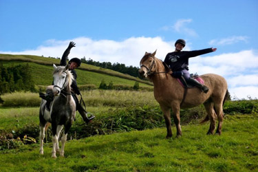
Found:
[[[0,21],[0,54],[61,57],[74,41],[69,58],[140,67],[177,39],[186,51],[217,47],[189,72],[224,76],[233,100],[258,98],[257,0],[0,0]]]

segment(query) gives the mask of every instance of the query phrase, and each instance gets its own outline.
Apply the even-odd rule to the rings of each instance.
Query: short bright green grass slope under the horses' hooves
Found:
[[[45,155],[26,145],[0,153],[0,171],[255,171],[257,126],[257,116],[241,115],[226,116],[222,136],[206,136],[208,125],[182,126],[182,138],[169,140],[164,128],[93,136],[67,142],[56,160],[52,144]]]

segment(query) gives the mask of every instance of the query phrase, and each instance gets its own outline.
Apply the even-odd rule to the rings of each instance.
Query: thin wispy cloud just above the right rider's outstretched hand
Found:
[[[210,45],[230,45],[238,42],[247,43],[248,36],[230,36],[225,39],[213,39],[208,44]]]

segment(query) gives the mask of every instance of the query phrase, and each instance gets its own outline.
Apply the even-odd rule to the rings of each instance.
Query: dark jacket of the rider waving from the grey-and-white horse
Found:
[[[71,48],[72,48],[72,47],[71,47]],[[63,56],[62,56],[61,61],[60,61],[60,65],[63,65],[63,66],[67,65],[67,57],[68,57],[68,55],[69,55],[69,53],[70,53],[71,48],[70,48],[70,47],[67,47],[67,49],[66,49],[65,52],[63,53]],[[76,93],[77,95],[79,95],[79,94],[80,94],[80,90],[79,90],[78,87],[77,87],[77,82],[76,82],[77,74],[76,74],[76,71],[75,71],[74,69],[72,69],[72,70],[70,70],[70,71],[71,71],[72,75],[74,76],[74,81],[72,82],[71,87],[72,87],[74,93]]]

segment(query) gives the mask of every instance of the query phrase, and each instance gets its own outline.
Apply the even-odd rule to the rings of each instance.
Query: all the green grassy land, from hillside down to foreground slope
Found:
[[[8,54],[0,54],[0,61],[6,66],[28,63],[41,88],[52,83],[51,65],[58,64],[58,59]],[[200,125],[206,115],[202,105],[182,109],[182,137],[175,138],[173,124],[174,135],[166,139],[163,114],[148,81],[86,64],[76,72],[79,87],[94,85],[81,93],[96,118],[85,125],[76,112],[65,158],[51,158],[51,126],[45,153],[39,155],[38,93],[0,95],[0,171],[258,171],[258,100],[226,101],[221,136],[206,135],[209,123]],[[140,80],[142,89],[96,89],[103,79],[123,87]]]

